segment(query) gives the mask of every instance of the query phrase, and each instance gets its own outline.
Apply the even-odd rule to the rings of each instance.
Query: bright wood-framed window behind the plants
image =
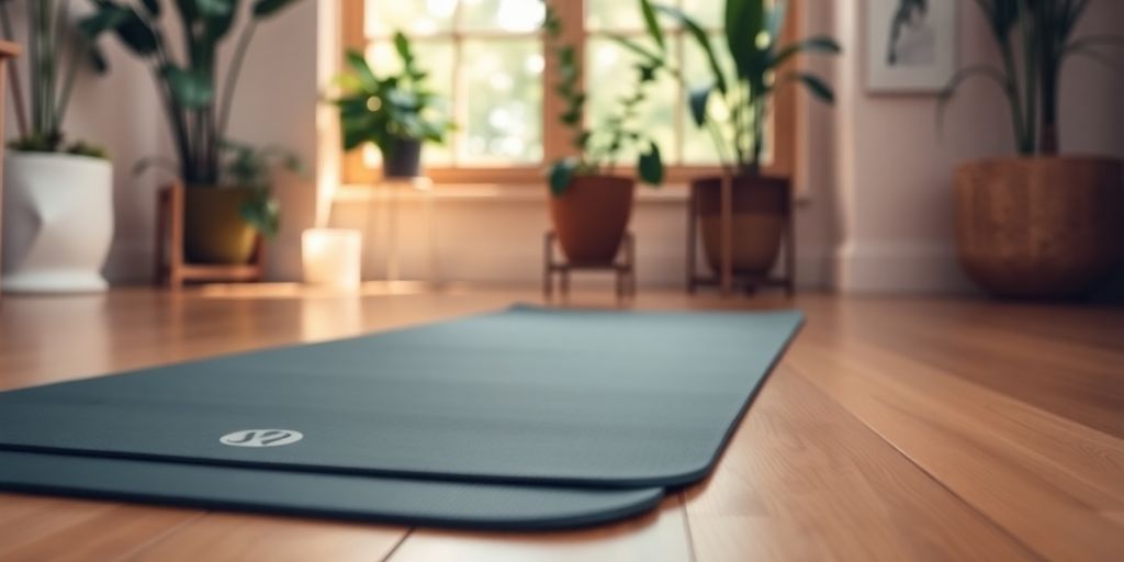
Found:
[[[596,123],[631,85],[617,76],[633,74],[634,56],[608,35],[644,36],[636,2],[552,1],[570,39],[583,53],[590,97],[586,120]],[[724,48],[723,2],[664,1],[699,19],[714,33],[715,47]],[[569,151],[570,132],[553,109],[556,79],[540,31],[541,0],[345,0],[344,10],[346,44],[364,51],[375,72],[396,70],[389,39],[400,29],[430,71],[432,85],[447,100],[459,128],[447,145],[426,147],[426,167],[436,181],[538,183],[545,165]],[[790,24],[796,19],[791,17]],[[667,31],[688,82],[706,80],[708,69],[695,42],[678,28]],[[718,164],[711,139],[690,120],[686,96],[683,87],[663,80],[650,91],[641,117],[663,149],[671,181],[713,172]],[[790,94],[778,98],[774,114],[772,167],[787,172],[795,127]],[[378,157],[373,148],[348,155],[345,181],[377,179]],[[623,155],[623,164],[631,161],[631,155]]]

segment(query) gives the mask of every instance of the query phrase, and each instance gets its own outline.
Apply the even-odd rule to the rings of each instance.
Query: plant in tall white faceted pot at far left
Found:
[[[0,31],[15,39],[11,0]],[[101,269],[114,237],[114,170],[103,149],[70,140],[63,125],[80,69],[105,71],[98,29],[72,25],[65,2],[20,2],[27,19],[27,85],[10,63],[18,137],[4,162],[3,290],[89,292],[107,287]]]

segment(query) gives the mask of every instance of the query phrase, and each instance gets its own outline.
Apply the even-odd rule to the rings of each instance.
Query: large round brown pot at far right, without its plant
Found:
[[[960,261],[996,297],[1088,293],[1124,256],[1124,171],[1094,157],[997,158],[955,175]]]

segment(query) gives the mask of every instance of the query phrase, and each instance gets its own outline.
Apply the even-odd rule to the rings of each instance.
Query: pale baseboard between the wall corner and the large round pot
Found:
[[[835,288],[855,294],[975,294],[952,244],[853,243],[835,251]]]

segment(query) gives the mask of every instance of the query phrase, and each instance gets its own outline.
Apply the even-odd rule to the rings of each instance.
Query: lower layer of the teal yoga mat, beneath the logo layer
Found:
[[[206,509],[506,531],[606,523],[646,511],[663,495],[659,488],[529,488],[4,451],[0,451],[0,488]]]

